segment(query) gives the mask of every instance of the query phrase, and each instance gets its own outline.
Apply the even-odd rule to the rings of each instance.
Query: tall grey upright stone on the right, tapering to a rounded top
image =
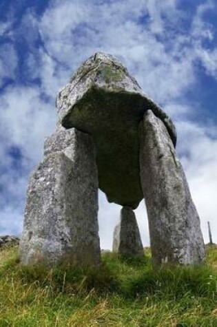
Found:
[[[154,264],[198,264],[200,220],[185,173],[162,121],[148,110],[140,127],[140,168]]]

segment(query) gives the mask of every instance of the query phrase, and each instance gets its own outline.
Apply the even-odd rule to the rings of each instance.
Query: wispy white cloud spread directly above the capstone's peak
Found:
[[[207,6],[203,12],[209,9]],[[203,52],[195,39],[205,37],[201,12],[198,10],[189,36],[171,28],[183,16],[176,1],[128,0],[100,5],[99,1],[54,1],[39,23],[47,51],[41,52],[42,78],[48,69],[53,85],[59,85],[63,76],[68,79],[81,61],[101,50],[119,56],[145,92],[165,104],[195,82],[194,64]],[[214,61],[211,54],[207,56],[206,62]]]

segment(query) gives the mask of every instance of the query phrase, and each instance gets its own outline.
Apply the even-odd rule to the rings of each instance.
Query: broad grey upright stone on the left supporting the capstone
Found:
[[[60,129],[46,140],[44,153],[28,186],[21,264],[97,265],[98,176],[92,137]]]

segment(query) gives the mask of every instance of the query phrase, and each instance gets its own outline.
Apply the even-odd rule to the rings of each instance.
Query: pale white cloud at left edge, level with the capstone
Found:
[[[39,87],[8,87],[0,103],[0,137],[37,162],[43,138],[54,128],[55,107],[41,98]]]

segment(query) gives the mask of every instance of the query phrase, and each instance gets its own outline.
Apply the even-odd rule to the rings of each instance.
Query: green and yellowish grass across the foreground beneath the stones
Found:
[[[217,327],[217,247],[207,264],[151,266],[103,253],[99,270],[21,267],[17,248],[0,251],[0,327]]]

